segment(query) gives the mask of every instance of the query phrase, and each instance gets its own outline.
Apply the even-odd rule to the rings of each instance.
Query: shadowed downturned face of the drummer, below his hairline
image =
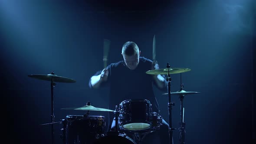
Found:
[[[129,69],[136,69],[137,68],[137,66],[139,64],[140,53],[141,53],[141,51],[139,51],[138,54],[133,55],[133,56],[126,56],[126,55],[122,54],[123,58],[125,60],[125,64],[127,65],[127,67]]]

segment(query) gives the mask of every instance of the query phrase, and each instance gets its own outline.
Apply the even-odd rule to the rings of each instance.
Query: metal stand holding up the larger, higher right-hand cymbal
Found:
[[[171,68],[169,63],[167,63],[167,68]],[[168,78],[166,79],[166,81],[168,82],[168,111],[169,111],[169,140],[170,140],[170,144],[173,144],[173,131],[175,130],[175,128],[172,128],[172,118],[171,118],[171,110],[172,110],[172,106],[174,106],[174,102],[171,102],[171,77],[170,77],[170,73],[169,73],[169,69],[168,69]]]

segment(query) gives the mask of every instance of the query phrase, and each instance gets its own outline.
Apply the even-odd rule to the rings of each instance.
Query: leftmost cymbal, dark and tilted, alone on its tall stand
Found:
[[[28,75],[28,76],[31,78],[41,79],[46,81],[52,81],[52,78],[53,78],[53,82],[66,82],[66,83],[76,82],[74,79],[58,76],[58,75],[55,75],[53,72],[48,75]]]

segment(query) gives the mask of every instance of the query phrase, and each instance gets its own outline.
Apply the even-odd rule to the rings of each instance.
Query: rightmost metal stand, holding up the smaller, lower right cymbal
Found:
[[[181,83],[181,89],[180,91],[183,90],[184,84]],[[184,99],[184,94],[181,94],[179,96],[180,100],[181,100],[181,123],[180,123],[180,128],[179,128],[179,141],[180,144],[185,144],[185,124],[184,123],[184,107],[183,107],[183,99]]]

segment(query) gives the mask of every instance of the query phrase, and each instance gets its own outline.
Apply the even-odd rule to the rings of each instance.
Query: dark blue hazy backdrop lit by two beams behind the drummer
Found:
[[[253,0],[1,0],[1,109],[4,140],[51,143],[50,82],[30,74],[75,79],[54,87],[55,121],[85,111],[60,110],[91,101],[107,108],[107,90],[90,90],[89,78],[103,68],[103,40],[111,40],[108,63],[122,59],[121,46],[134,41],[141,56],[160,68],[189,68],[171,75],[171,92],[184,83],[187,144],[249,144],[255,141],[256,3]],[[141,79],[143,80],[143,79]],[[167,95],[155,89],[168,121]],[[121,96],[121,94],[120,94]],[[173,128],[179,128],[176,95]],[[108,117],[105,111],[91,115]],[[108,123],[107,123],[108,124]],[[61,143],[55,124],[55,141]],[[7,138],[10,136],[10,138]],[[178,131],[173,134],[178,143]]]

